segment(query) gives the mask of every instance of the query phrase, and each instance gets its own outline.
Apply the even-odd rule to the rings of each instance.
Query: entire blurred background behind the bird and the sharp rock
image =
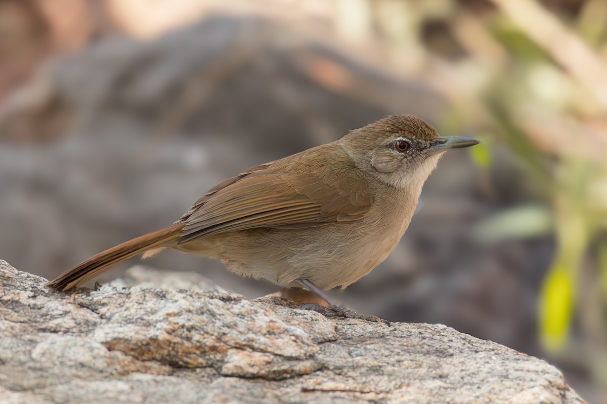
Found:
[[[398,248],[333,296],[542,357],[607,403],[605,0],[0,0],[0,258],[54,277],[398,113],[482,144],[447,153]]]

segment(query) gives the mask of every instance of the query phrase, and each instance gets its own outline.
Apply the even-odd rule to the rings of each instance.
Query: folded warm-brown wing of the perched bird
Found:
[[[302,228],[361,219],[373,196],[356,181],[351,186],[328,170],[282,173],[254,167],[212,188],[178,223],[179,243],[210,234],[251,228]],[[361,185],[362,184],[362,185]]]

